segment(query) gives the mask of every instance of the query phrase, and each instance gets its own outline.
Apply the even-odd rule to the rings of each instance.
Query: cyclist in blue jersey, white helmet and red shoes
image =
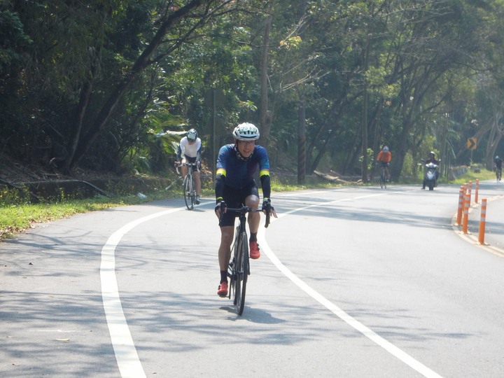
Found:
[[[257,209],[259,207],[259,191],[254,181],[254,174],[259,169],[262,187],[262,210],[271,204],[271,184],[269,180],[269,160],[266,148],[257,146],[259,130],[251,123],[241,123],[233,131],[234,144],[221,147],[217,158],[217,172],[215,182],[216,216],[220,219],[221,246],[218,250],[221,281],[217,295],[228,295],[228,265],[231,258],[231,244],[235,234],[235,218],[238,214],[226,212],[226,207],[241,206]],[[273,207],[269,207],[270,214],[276,218]],[[221,217],[222,215],[222,217]],[[257,242],[257,232],[260,224],[260,213],[248,213],[248,228],[250,230],[249,251],[250,258],[260,257]]]

